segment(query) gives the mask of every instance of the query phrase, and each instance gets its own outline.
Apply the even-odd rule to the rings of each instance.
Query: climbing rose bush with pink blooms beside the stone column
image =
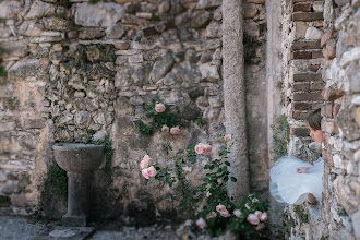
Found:
[[[153,101],[152,109],[148,110],[148,116],[153,118],[152,125],[156,127],[154,129],[159,129],[163,132],[166,141],[163,149],[170,156],[172,147],[168,135],[169,133],[171,135],[180,133],[180,128],[176,124],[176,117],[169,113],[166,105],[155,105],[155,101]],[[182,196],[182,209],[187,217],[196,219],[195,224],[200,229],[206,229],[212,236],[220,236],[226,230],[231,230],[240,232],[244,239],[256,239],[263,235],[267,226],[268,201],[262,201],[254,194],[248,195],[241,203],[231,201],[226,191],[226,183],[228,181],[236,182],[237,179],[230,177],[227,167],[231,164],[227,158],[235,141],[230,134],[223,134],[220,140],[223,146],[217,149],[219,157],[209,160],[204,166],[206,173],[201,185],[190,188],[185,181],[183,169],[189,169],[189,164],[196,163],[196,154],[205,156],[212,154],[213,147],[206,143],[179,149],[171,156],[175,169],[161,168],[159,164],[151,163],[153,161],[152,158],[145,155],[140,163],[141,172],[146,179],[155,178],[165,181],[170,187],[176,185],[178,195]]]

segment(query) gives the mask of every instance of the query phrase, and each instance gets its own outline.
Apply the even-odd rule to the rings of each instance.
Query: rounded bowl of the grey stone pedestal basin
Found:
[[[68,172],[93,171],[104,160],[104,145],[57,143],[52,149],[56,161]]]

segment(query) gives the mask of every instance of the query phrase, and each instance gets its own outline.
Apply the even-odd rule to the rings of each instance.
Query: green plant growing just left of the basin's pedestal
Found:
[[[55,190],[63,197],[68,196],[68,176],[67,171],[59,167],[57,163],[53,163],[48,169],[47,180]]]

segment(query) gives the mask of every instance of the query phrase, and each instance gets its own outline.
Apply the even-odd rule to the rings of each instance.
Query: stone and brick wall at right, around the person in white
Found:
[[[296,0],[284,9],[289,153],[304,160],[319,156],[303,120],[321,107],[325,165],[322,202],[286,207],[288,236],[360,239],[359,1]]]

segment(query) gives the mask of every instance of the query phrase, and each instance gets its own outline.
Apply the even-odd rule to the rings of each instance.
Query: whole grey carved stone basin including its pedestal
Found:
[[[104,145],[58,143],[52,146],[55,160],[68,172],[68,213],[62,224],[85,227],[92,202],[92,175],[104,160]]]

